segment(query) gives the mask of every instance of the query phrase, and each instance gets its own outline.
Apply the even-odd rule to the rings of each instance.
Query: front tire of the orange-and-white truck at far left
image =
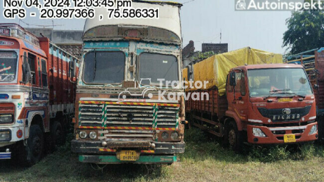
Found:
[[[40,161],[44,149],[44,135],[38,125],[31,125],[24,153],[20,156],[26,166],[32,166]]]

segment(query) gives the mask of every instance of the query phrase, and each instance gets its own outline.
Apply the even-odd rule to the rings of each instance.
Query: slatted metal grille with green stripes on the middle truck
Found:
[[[178,104],[154,105],[154,103],[144,103],[142,105],[116,104],[115,102],[85,102],[79,103],[79,125],[81,126],[177,127]],[[157,115],[156,119],[154,119],[154,113]]]

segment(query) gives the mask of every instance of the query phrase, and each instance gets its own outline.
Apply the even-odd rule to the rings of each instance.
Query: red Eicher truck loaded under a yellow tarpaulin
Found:
[[[186,94],[196,93],[185,102],[189,124],[223,137],[234,150],[243,142],[317,140],[316,102],[306,71],[282,62],[281,55],[247,47],[188,66],[186,80],[208,81],[203,89],[186,88]]]

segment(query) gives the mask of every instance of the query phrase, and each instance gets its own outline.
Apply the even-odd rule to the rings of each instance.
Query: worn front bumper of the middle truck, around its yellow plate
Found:
[[[155,148],[151,148],[151,144]],[[121,150],[135,150],[139,153],[139,158],[132,163],[172,163],[176,161],[174,154],[184,152],[184,142],[107,142],[107,146],[102,146],[102,141],[72,140],[72,152],[82,154],[79,156],[80,162],[85,163],[127,163],[120,161],[118,154]]]

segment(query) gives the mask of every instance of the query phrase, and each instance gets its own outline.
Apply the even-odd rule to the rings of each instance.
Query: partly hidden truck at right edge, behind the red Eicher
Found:
[[[319,125],[319,140],[324,142],[324,48],[308,50],[285,56],[290,64],[303,65],[314,89],[316,99],[316,120]]]

